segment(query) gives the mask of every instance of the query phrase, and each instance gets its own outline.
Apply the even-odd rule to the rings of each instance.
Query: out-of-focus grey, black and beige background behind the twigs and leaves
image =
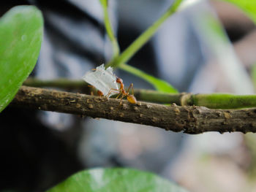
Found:
[[[255,24],[224,1],[187,2],[192,4],[184,4],[166,20],[128,64],[180,92],[255,93]],[[109,0],[121,50],[172,3]],[[80,80],[111,58],[99,1],[1,1],[0,15],[18,4],[36,5],[45,19],[42,49],[31,76]],[[125,85],[152,89],[132,74],[116,74]],[[79,170],[97,166],[154,172],[192,192],[256,191],[255,134],[192,136],[13,107],[1,112],[0,122],[0,191],[45,191]]]

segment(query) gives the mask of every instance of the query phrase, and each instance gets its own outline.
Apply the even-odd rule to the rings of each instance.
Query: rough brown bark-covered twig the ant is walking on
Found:
[[[120,104],[121,103],[121,104]],[[86,115],[157,126],[170,131],[200,134],[206,131],[256,132],[256,109],[209,110],[206,107],[170,106],[138,101],[130,104],[80,93],[22,86],[11,106]]]

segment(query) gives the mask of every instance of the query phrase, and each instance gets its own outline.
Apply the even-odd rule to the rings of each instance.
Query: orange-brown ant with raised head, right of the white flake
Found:
[[[118,91],[118,96],[116,96],[116,99],[118,99],[119,96],[120,99],[123,99],[125,96],[127,96],[127,100],[131,103],[131,104],[136,104],[137,103],[137,100],[134,96],[134,93],[133,93],[133,83],[131,83],[131,85],[129,85],[129,88],[127,91],[124,90],[124,83],[123,83],[123,80],[119,77],[116,77],[116,82],[120,84],[120,88],[119,89],[114,89],[114,88],[111,88],[109,93],[108,93],[108,96],[110,95],[110,93],[114,92],[114,91]],[[129,93],[129,89],[132,88],[132,94]],[[121,104],[121,103],[120,103]]]

